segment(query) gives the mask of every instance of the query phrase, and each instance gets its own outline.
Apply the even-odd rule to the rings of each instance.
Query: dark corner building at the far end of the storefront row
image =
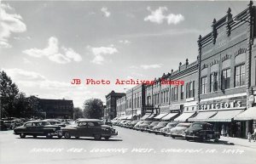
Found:
[[[117,99],[125,96],[125,93],[115,93],[112,91],[106,95],[106,109],[104,110],[104,118],[113,119],[117,116]]]

